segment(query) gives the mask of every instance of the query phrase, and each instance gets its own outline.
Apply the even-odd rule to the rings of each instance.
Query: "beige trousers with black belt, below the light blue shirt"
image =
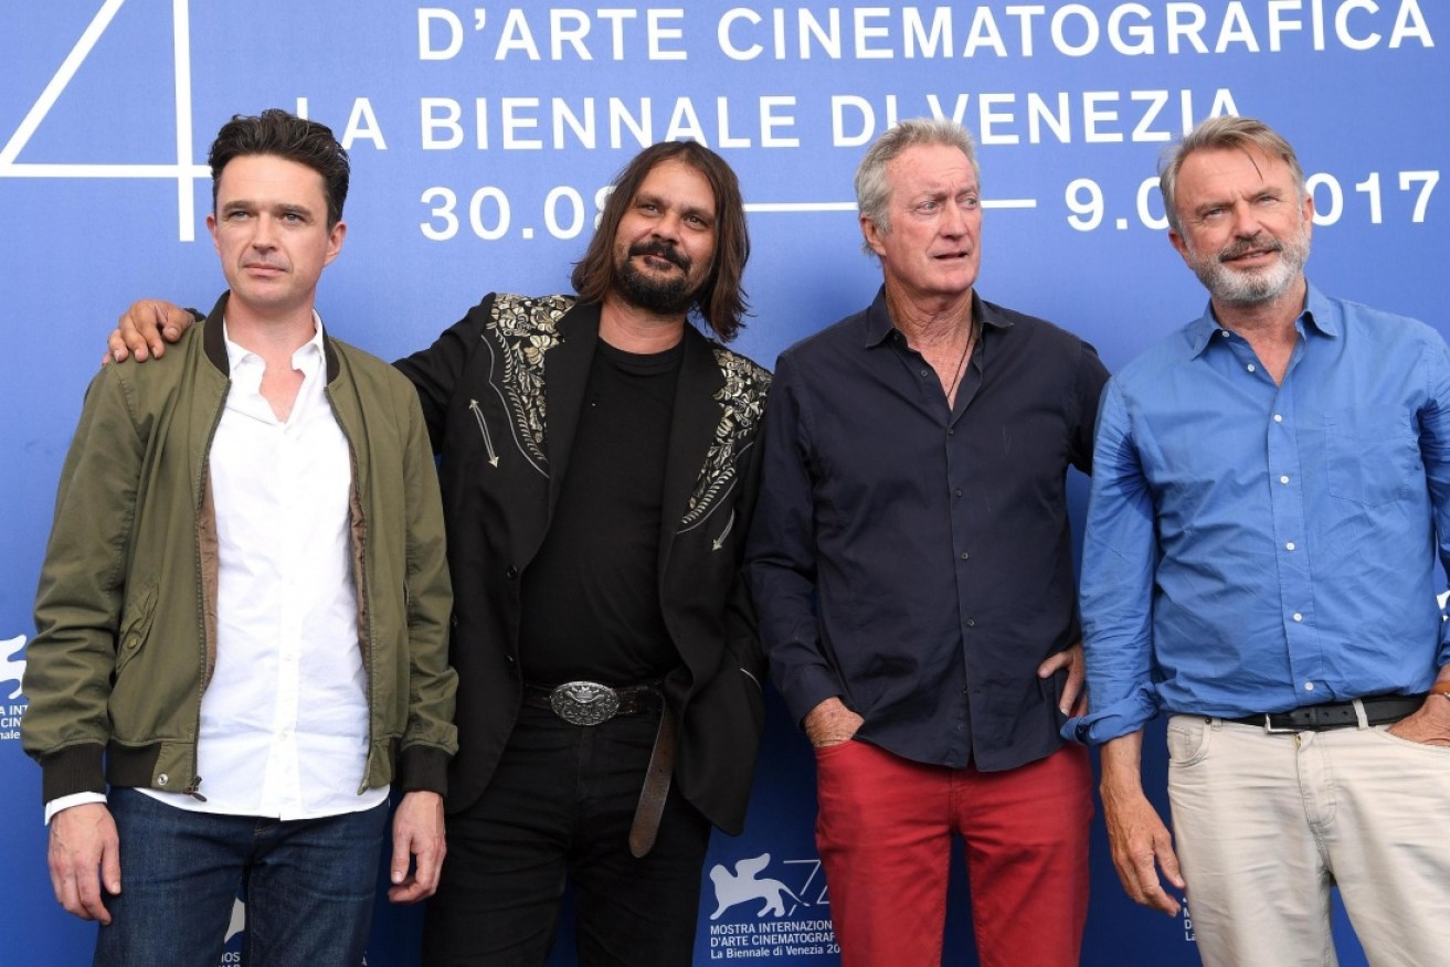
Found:
[[[1373,967],[1450,958],[1450,748],[1176,715],[1169,797],[1208,967],[1337,964],[1338,886]]]

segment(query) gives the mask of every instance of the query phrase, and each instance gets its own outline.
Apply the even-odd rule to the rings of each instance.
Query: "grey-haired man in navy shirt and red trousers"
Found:
[[[982,300],[979,171],[908,120],[856,175],[884,274],[782,354],[747,551],[771,674],[816,750],[842,963],[940,964],[954,835],[983,964],[1076,964],[1086,752],[1066,473],[1088,470],[1092,346]]]

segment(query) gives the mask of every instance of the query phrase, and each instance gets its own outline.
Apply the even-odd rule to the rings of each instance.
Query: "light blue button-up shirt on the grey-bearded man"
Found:
[[[1312,286],[1283,383],[1211,312],[1108,384],[1083,545],[1090,713],[1425,692],[1447,660],[1450,349]]]

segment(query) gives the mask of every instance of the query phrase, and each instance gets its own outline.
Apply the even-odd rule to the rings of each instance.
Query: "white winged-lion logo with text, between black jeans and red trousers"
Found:
[[[710,867],[715,912],[709,922],[710,960],[840,957],[831,929],[831,902],[821,860],[771,857]]]

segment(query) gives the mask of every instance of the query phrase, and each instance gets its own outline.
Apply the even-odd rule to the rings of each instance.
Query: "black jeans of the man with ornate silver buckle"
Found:
[[[476,803],[448,816],[423,926],[426,967],[538,967],[566,877],[584,967],[689,967],[709,822],[670,787],[660,835],[629,854],[658,715],[570,725],[525,706]]]

